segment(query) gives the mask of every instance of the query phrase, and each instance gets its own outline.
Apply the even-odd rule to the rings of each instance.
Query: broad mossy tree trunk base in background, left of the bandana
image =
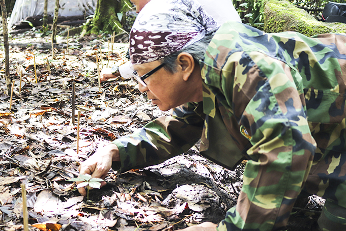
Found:
[[[112,34],[122,32],[122,24],[119,16],[129,10],[129,0],[97,0],[97,6],[91,23],[85,23],[82,35],[98,34],[99,32]],[[123,20],[122,20],[123,21]]]

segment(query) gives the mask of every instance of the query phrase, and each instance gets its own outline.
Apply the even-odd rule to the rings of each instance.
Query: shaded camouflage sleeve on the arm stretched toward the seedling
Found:
[[[172,110],[131,135],[112,143],[118,146],[121,171],[159,164],[188,151],[201,137],[204,118],[194,111],[197,104],[187,103]],[[112,168],[119,170],[119,163]]]

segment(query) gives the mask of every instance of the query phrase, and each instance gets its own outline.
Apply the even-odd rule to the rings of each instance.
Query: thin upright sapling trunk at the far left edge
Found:
[[[9,57],[9,37],[7,28],[7,12],[5,0],[0,0],[1,11],[3,16],[3,31],[4,31],[4,48],[5,48],[5,79],[8,94],[11,93],[11,79],[10,79],[10,57]]]

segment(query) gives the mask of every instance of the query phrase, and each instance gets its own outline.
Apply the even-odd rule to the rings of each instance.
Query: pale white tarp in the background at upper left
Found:
[[[97,0],[60,0],[59,16],[92,15]],[[54,15],[55,0],[48,0],[48,16]],[[42,15],[44,0],[17,0],[9,21],[9,26],[24,20],[26,17]]]

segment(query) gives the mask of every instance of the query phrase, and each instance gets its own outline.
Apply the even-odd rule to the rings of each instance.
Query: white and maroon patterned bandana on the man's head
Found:
[[[151,0],[130,33],[132,64],[153,62],[212,35],[218,24],[194,0]]]

